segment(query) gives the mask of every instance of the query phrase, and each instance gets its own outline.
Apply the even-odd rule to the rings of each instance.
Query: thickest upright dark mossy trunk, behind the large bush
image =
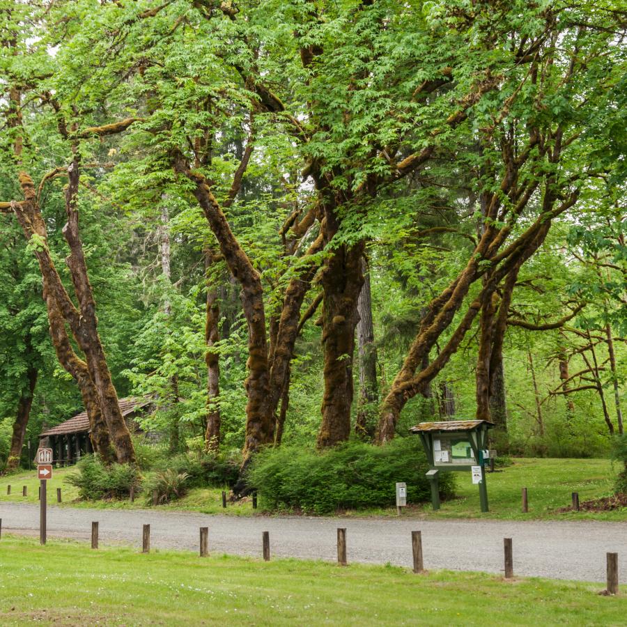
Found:
[[[327,258],[321,278],[323,301],[323,350],[325,391],[318,448],[348,440],[353,404],[353,357],[357,300],[362,289],[364,246],[341,245]]]

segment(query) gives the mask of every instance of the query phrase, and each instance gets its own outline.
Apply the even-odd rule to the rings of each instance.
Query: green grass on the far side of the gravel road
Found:
[[[79,507],[142,509],[146,507],[144,495],[138,495],[131,503],[125,501],[78,502],[78,491],[63,482],[72,468],[54,471],[48,481],[48,500],[56,503],[56,488],[62,489],[63,504]],[[612,483],[617,467],[606,459],[516,459],[513,465],[498,472],[488,473],[488,498],[490,512],[479,511],[479,490],[470,481],[470,473],[456,473],[457,497],[442,502],[442,509],[431,511],[431,505],[409,506],[403,516],[418,518],[504,518],[504,519],[566,519],[566,520],[614,520],[626,521],[627,509],[608,512],[557,512],[571,504],[571,493],[578,492],[580,501],[606,496],[612,491]],[[6,494],[6,486],[12,486],[11,495]],[[28,496],[22,497],[22,486],[28,488]],[[31,502],[38,500],[39,481],[35,471],[20,472],[9,477],[0,477],[0,501]],[[529,493],[529,513],[520,511],[520,490],[526,487]],[[393,486],[392,486],[393,489]],[[243,500],[222,509],[222,490],[197,488],[182,500],[158,509],[201,511],[203,513],[226,513],[231,516],[252,516],[263,513],[254,511],[250,500]],[[346,516],[396,516],[396,509],[371,509],[368,511],[348,511]]]

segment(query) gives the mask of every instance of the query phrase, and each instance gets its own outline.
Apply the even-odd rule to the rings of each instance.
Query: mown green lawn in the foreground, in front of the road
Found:
[[[602,585],[0,541],[0,624],[624,625]]]

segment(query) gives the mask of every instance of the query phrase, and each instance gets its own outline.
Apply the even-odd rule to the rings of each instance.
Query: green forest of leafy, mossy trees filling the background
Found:
[[[431,419],[604,456],[627,376],[611,1],[0,2],[0,464]]]

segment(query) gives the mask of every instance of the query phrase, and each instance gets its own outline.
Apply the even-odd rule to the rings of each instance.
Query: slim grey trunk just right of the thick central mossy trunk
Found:
[[[362,273],[364,284],[359,292],[357,312],[357,344],[359,348],[359,401],[357,403],[357,419],[355,433],[361,436],[374,435],[374,425],[371,424],[373,413],[372,403],[379,398],[377,381],[377,350],[374,346],[374,326],[372,322],[372,294],[370,288],[370,272],[365,258],[362,258]]]

